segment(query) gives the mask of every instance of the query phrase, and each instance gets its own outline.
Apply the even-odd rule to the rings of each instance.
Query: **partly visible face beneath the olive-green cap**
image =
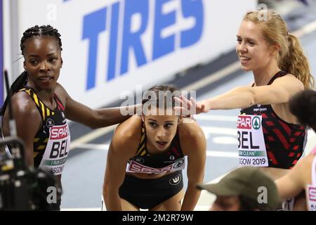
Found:
[[[240,203],[238,196],[217,196],[210,211],[239,211]]]

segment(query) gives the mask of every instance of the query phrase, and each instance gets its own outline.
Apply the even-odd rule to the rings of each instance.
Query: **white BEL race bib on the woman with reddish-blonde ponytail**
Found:
[[[268,167],[261,115],[239,115],[237,120],[239,166]]]

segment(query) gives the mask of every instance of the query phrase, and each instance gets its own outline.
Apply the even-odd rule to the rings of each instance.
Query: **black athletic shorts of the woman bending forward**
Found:
[[[119,188],[119,196],[140,209],[150,209],[173,197],[182,188],[182,170],[158,179],[140,179],[126,174]]]

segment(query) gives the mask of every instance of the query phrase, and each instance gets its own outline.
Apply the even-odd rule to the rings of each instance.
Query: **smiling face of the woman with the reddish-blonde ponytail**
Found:
[[[267,67],[275,59],[272,48],[263,39],[261,25],[244,20],[237,33],[237,56],[242,70],[256,71]]]

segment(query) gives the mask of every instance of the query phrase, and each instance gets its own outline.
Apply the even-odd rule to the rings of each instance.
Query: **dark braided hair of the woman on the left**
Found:
[[[25,56],[24,55],[25,41],[31,37],[36,37],[36,36],[41,37],[43,35],[55,37],[58,41],[60,51],[62,51],[62,41],[60,39],[60,33],[58,33],[58,30],[56,30],[51,25],[43,25],[41,27],[36,25],[34,27],[30,27],[29,29],[25,30],[25,32],[23,33],[23,36],[20,41],[20,49],[22,52],[22,56]],[[20,74],[20,76],[17,79],[15,79],[15,81],[11,85],[10,90],[9,90],[10,95],[12,96],[13,94],[17,93],[26,84],[27,84],[27,71],[24,71]],[[8,105],[8,96],[6,96],[4,105],[2,105],[2,108],[0,109],[0,116],[4,116],[7,105]]]

